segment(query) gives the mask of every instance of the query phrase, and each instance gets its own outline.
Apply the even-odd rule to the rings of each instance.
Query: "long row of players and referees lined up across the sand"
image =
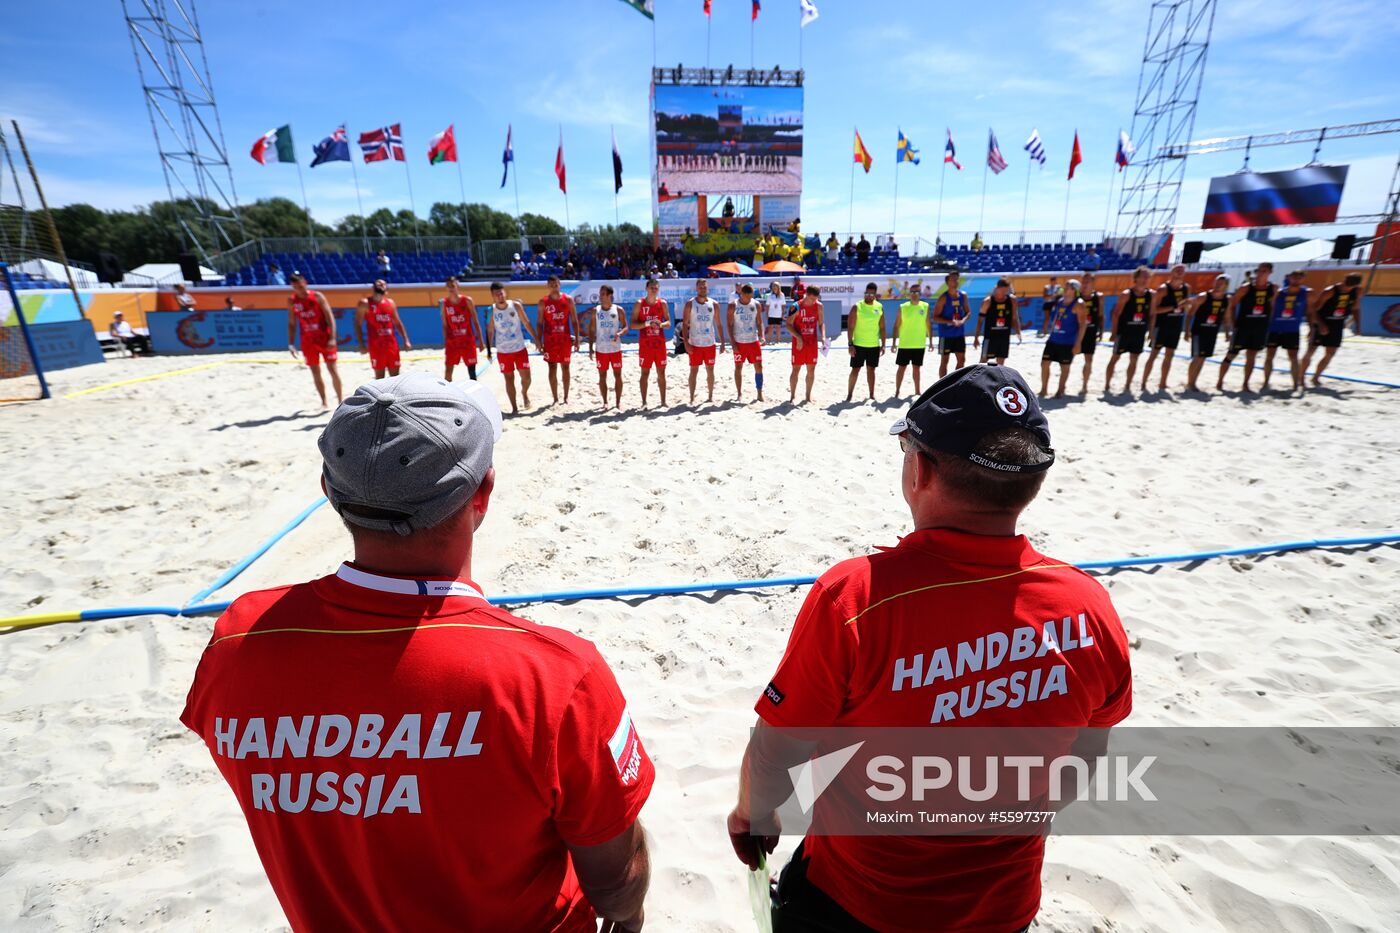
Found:
[[[1148,287],[1151,270],[1140,268],[1133,276],[1133,284],[1124,289],[1117,307],[1105,321],[1105,294],[1093,289],[1093,273],[1085,273],[1084,280],[1071,279],[1063,291],[1047,287],[1044,297],[1044,318],[1040,333],[1046,335],[1042,354],[1043,395],[1047,394],[1053,363],[1060,364],[1058,391],[1065,394],[1070,366],[1075,356],[1084,357],[1084,382],[1081,395],[1088,394],[1093,354],[1100,335],[1112,339],[1112,357],[1105,377],[1105,392],[1113,384],[1119,357],[1128,356],[1124,392],[1133,385],[1138,356],[1148,349],[1151,353],[1142,371],[1141,389],[1145,392],[1152,367],[1162,356],[1158,391],[1166,391],[1172,360],[1182,338],[1189,336],[1191,361],[1187,374],[1187,391],[1200,391],[1197,377],[1207,357],[1215,353],[1218,335],[1229,336],[1226,354],[1219,367],[1217,389],[1224,389],[1225,374],[1235,357],[1245,353],[1243,391],[1250,389],[1259,350],[1267,349],[1264,359],[1264,388],[1273,374],[1275,352],[1282,347],[1289,359],[1294,388],[1302,388],[1303,373],[1312,361],[1315,350],[1323,354],[1313,374],[1313,384],[1331,361],[1341,345],[1343,331],[1350,319],[1359,332],[1361,277],[1347,276],[1341,286],[1331,286],[1313,294],[1303,284],[1303,273],[1295,272],[1284,289],[1268,282],[1273,272],[1270,263],[1261,263],[1253,282],[1229,294],[1229,279],[1218,276],[1208,291],[1191,294],[1186,283],[1186,268],[1175,266],[1169,280],[1158,289]],[[875,398],[875,368],[890,349],[895,350],[895,395],[903,389],[906,370],[913,370],[914,394],[921,391],[921,367],[925,350],[934,349],[938,339],[939,377],[946,374],[949,363],[956,368],[966,364],[967,322],[973,319],[972,304],[960,287],[958,272],[946,275],[946,287],[934,298],[934,307],[923,300],[916,284],[909,300],[899,305],[892,328],[885,325],[885,307],[878,300],[878,287],[869,283],[861,301],[857,301],[844,322],[850,336],[850,378],[846,399],[855,392],[860,370],[865,368],[869,398]],[[491,305],[486,315],[484,331],[480,325],[476,303],[459,289],[455,277],[447,280],[448,294],[440,300],[442,332],[445,335],[445,378],[451,380],[458,364],[468,367],[470,378],[476,378],[477,354],[484,350],[487,359],[498,356],[498,364],[505,377],[505,391],[511,412],[518,413],[517,374],[519,374],[519,395],[529,406],[531,368],[526,339],[533,342],[549,367],[549,384],[553,401],[568,401],[573,353],[588,342],[589,359],[598,370],[598,389],[603,408],[609,408],[608,371],[613,374],[615,405],[622,408],[622,340],[631,331],[637,332],[641,363],[641,403],[647,405],[650,374],[655,371],[661,405],[666,405],[666,360],[671,354],[666,331],[678,321],[672,317],[669,304],[661,297],[657,280],[647,283],[645,297],[638,300],[630,312],[613,303],[610,286],[599,287],[599,303],[580,314],[574,300],[560,291],[560,280],[550,277],[549,294],[539,301],[538,328],[531,325],[525,307],[507,296],[505,286],[491,284]],[[337,339],[335,315],[323,294],[311,290],[305,277],[291,279],[291,314],[287,322],[288,350],[297,354],[297,329],[301,333],[301,353],[311,368],[312,380],[326,405],[325,384],[321,377],[321,361],[330,373],[336,399],[342,398],[340,377],[336,370]],[[384,280],[374,283],[372,291],[363,298],[356,310],[354,331],[361,352],[368,349],[375,378],[399,374],[399,338],[405,349],[412,349],[407,331],[399,318],[398,308],[388,297]],[[973,349],[981,347],[981,361],[1004,364],[1011,352],[1011,335],[1018,342],[1022,338],[1022,322],[1018,311],[1019,298],[1014,294],[1011,282],[1000,279],[991,294],[983,298],[979,308],[979,325],[973,335]],[[820,289],[808,286],[801,296],[790,298],[777,282],[759,297],[752,286],[741,286],[738,296],[721,312],[720,304],[708,294],[708,282],[696,280],[696,293],[687,298],[676,328],[676,354],[685,353],[690,364],[690,403],[696,402],[700,368],[706,370],[707,401],[714,402],[714,366],[717,353],[727,353],[734,346],[735,392],[743,399],[743,367],[753,370],[757,399],[763,398],[763,346],[778,343],[785,333],[791,338],[792,364],[788,380],[790,402],[797,401],[802,368],[806,370],[805,401],[812,401],[818,353],[829,350],[825,333],[825,307]],[[1302,322],[1310,328],[1310,342],[1299,360]],[[1149,345],[1149,346],[1148,346]]]

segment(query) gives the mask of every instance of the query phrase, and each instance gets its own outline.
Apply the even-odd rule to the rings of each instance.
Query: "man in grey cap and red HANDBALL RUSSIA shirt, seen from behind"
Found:
[[[321,436],[354,560],[239,597],[181,720],[294,930],[640,930],[655,770],[598,650],[494,608],[472,548],[501,412],[370,382]]]

